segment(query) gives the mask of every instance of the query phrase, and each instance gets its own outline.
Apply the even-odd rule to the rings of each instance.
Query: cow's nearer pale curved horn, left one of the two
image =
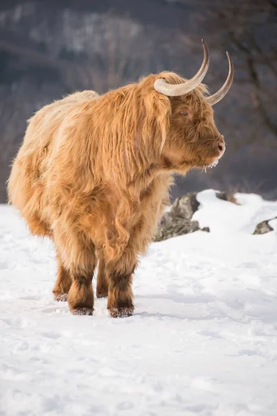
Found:
[[[186,83],[182,84],[168,84],[166,80],[159,79],[154,82],[154,89],[156,89],[157,92],[160,92],[163,95],[175,97],[175,96],[181,96],[184,94],[188,94],[188,92],[193,91],[199,85],[204,76],[206,75],[206,72],[208,71],[208,63],[209,63],[209,56],[208,56],[208,46],[204,39],[202,39],[203,49],[204,49],[204,59],[203,63],[201,65],[201,68],[197,72],[197,74],[191,78],[190,80],[186,81]]]

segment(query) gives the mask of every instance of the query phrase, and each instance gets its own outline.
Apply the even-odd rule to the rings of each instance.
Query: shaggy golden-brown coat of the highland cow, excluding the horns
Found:
[[[132,273],[168,204],[172,173],[220,157],[204,85],[169,98],[154,90],[157,78],[185,81],[163,72],[103,96],[78,92],[28,121],[9,198],[33,234],[53,240],[53,292],[57,300],[68,293],[72,313],[93,312],[100,259],[97,295],[108,295],[111,316],[132,314]]]

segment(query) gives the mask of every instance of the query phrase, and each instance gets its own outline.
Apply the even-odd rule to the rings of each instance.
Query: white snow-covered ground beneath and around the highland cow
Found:
[[[277,202],[197,198],[211,232],[150,246],[125,319],[54,302],[51,243],[0,207],[1,416],[277,415]]]

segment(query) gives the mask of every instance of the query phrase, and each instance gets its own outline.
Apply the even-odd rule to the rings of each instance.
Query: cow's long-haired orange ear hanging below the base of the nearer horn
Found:
[[[160,150],[166,141],[166,136],[170,128],[171,104],[170,98],[154,89],[145,96],[145,127],[150,131],[155,131],[160,137]],[[154,129],[154,130],[153,130]],[[157,139],[159,139],[157,137]]]

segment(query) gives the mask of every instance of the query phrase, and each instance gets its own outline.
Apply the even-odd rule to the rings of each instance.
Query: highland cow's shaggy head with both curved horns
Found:
[[[145,115],[153,114],[156,118],[161,155],[179,172],[215,166],[225,151],[224,137],[215,125],[212,106],[231,87],[233,63],[227,52],[229,76],[218,92],[207,96],[208,91],[201,82],[208,70],[208,47],[204,40],[202,43],[204,61],[192,79],[162,72],[141,81],[145,87]]]

